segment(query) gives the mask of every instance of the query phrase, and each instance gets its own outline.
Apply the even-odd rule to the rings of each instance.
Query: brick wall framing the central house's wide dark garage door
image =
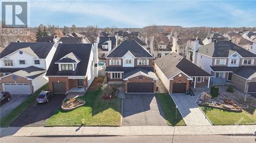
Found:
[[[150,77],[146,77],[146,76],[143,76],[142,79],[139,79],[139,76],[135,76],[135,77],[132,77],[128,80],[125,80],[124,81],[124,91],[125,93],[127,93],[127,83],[133,83],[133,82],[154,82],[154,93],[156,93],[156,80],[153,80],[152,78]]]

